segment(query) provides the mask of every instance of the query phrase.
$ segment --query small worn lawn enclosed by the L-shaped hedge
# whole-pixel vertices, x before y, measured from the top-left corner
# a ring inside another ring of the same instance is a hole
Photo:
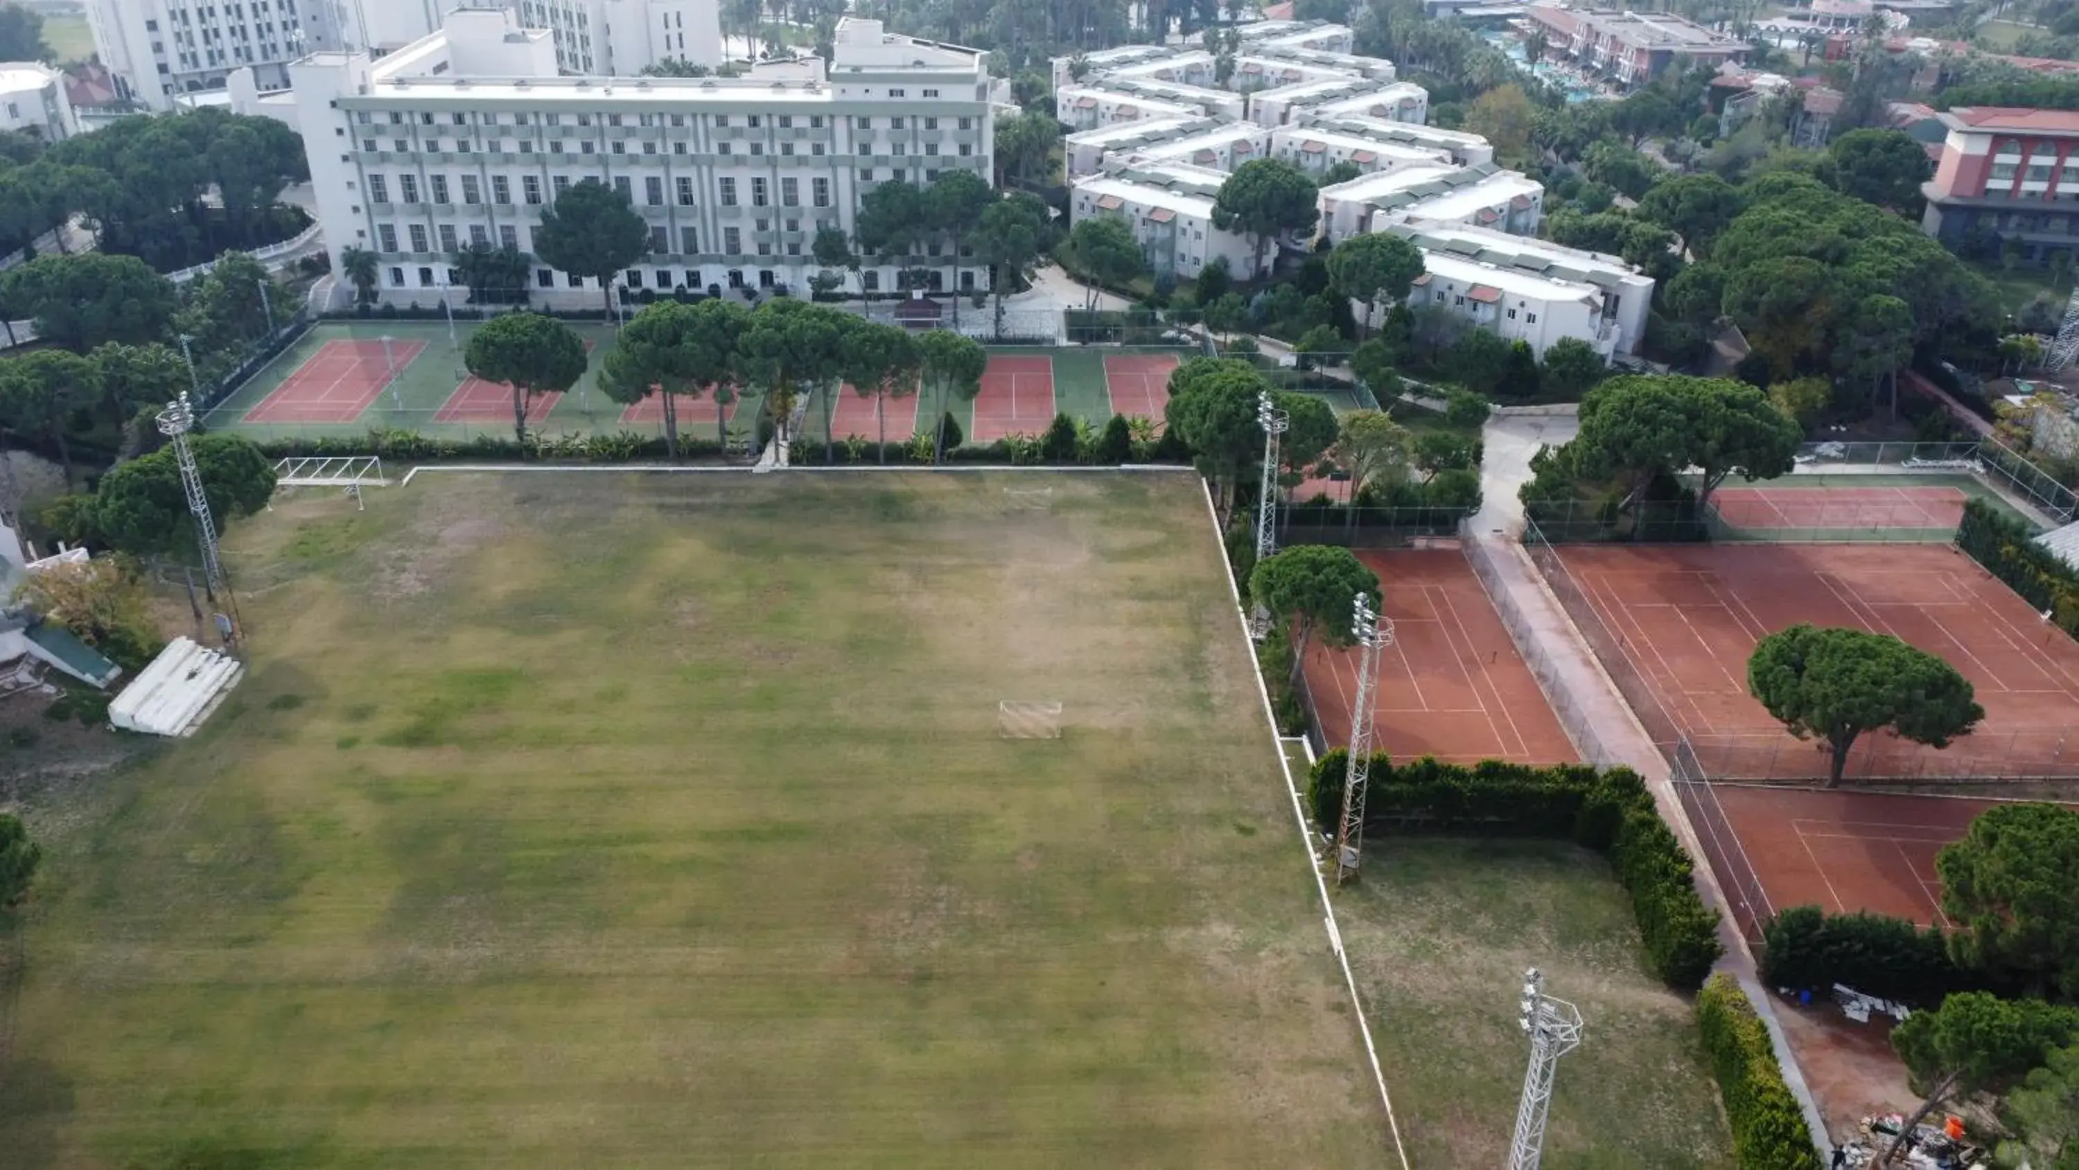
[[[1609,867],[1563,842],[1372,837],[1337,914],[1416,1166],[1507,1162],[1528,1043],[1524,968],[1574,1002],[1545,1166],[1730,1168],[1688,1002],[1647,975]]]

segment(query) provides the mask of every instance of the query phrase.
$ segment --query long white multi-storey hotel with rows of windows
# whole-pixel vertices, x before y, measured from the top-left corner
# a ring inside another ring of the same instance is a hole
[[[584,181],[628,193],[651,229],[651,256],[615,283],[800,289],[817,270],[815,233],[850,235],[875,183],[990,175],[983,58],[844,19],[827,67],[563,77],[547,29],[522,29],[505,10],[457,10],[380,60],[318,52],[291,75],[335,272],[345,247],[372,249],[385,301],[432,303],[462,299],[449,293],[453,251],[532,251],[541,208]],[[906,266],[931,270],[933,287],[952,281],[952,258],[936,245]],[[979,291],[988,274],[963,266],[958,281]],[[896,266],[865,268],[861,285],[894,291]],[[597,283],[538,264],[532,293],[551,308],[599,303]]]

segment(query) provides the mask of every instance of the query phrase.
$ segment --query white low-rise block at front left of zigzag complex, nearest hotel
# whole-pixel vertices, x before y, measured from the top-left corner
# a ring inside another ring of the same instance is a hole
[[[1256,262],[1254,241],[1212,227],[1212,200],[1222,181],[1227,175],[1220,170],[1187,164],[1083,179],[1069,197],[1069,224],[1073,229],[1091,216],[1125,220],[1154,272],[1189,281],[1222,256],[1231,272],[1245,274]],[[1264,260],[1274,254],[1277,245],[1270,245]]]

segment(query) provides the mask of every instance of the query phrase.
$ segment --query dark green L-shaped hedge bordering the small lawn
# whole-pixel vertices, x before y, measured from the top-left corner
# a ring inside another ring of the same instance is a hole
[[[1314,823],[1335,831],[1343,813],[1349,752],[1324,754],[1308,777]],[[1694,991],[1723,954],[1717,910],[1696,894],[1688,850],[1661,821],[1638,773],[1626,767],[1514,765],[1472,767],[1422,756],[1393,765],[1372,756],[1364,798],[1366,827],[1565,837],[1609,858],[1632,900],[1647,966],[1661,983]]]

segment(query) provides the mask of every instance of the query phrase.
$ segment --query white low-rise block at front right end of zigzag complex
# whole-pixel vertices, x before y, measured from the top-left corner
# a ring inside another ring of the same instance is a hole
[[[1653,278],[1615,256],[1559,247],[1499,231],[1418,220],[1397,224],[1422,251],[1410,303],[1432,303],[1480,328],[1524,341],[1541,357],[1561,337],[1609,357],[1636,353],[1653,303]],[[1362,316],[1364,305],[1356,305]]]

